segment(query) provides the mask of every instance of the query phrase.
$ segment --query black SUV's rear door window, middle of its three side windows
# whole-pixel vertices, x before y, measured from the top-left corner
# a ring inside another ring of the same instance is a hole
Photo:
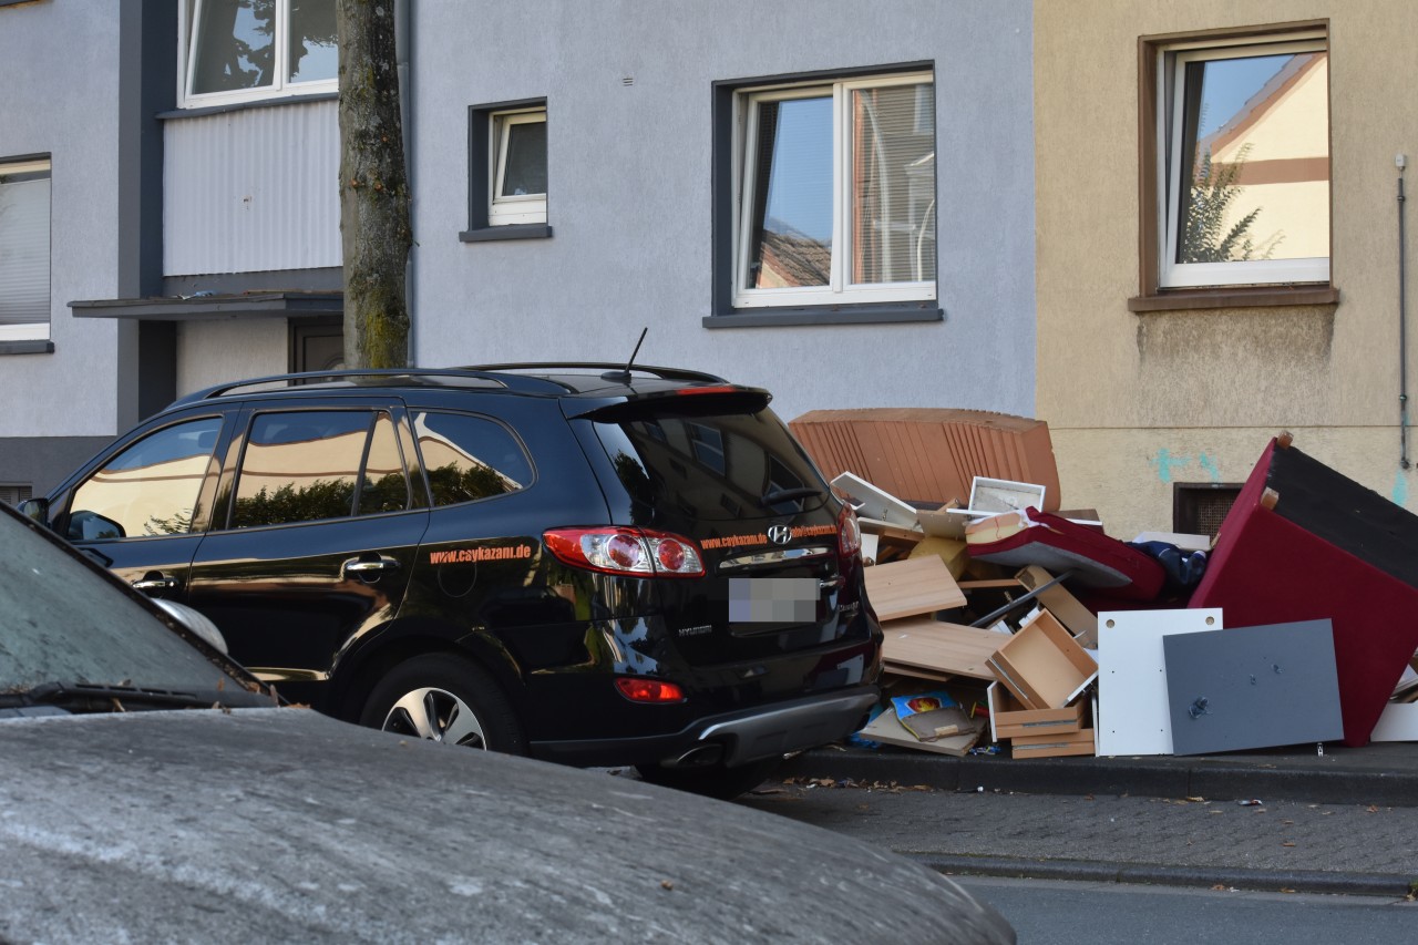
[[[360,511],[406,508],[403,463],[387,421],[387,413],[364,410],[258,413],[241,457],[231,526],[346,518],[360,482],[369,495],[369,508],[362,501]],[[386,488],[387,495],[377,495]]]

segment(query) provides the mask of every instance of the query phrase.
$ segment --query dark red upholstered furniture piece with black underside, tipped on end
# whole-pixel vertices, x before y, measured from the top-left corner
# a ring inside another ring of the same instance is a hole
[[[1364,745],[1418,648],[1418,516],[1272,440],[1190,606],[1221,607],[1232,627],[1329,617],[1344,744]]]

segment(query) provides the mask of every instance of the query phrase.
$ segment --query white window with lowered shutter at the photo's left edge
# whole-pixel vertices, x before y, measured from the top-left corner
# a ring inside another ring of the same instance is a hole
[[[0,342],[50,338],[50,162],[0,160]]]

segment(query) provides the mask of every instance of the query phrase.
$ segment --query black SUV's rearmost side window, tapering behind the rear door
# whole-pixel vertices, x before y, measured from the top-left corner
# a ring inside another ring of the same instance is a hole
[[[414,414],[414,433],[434,505],[472,502],[532,484],[527,454],[501,423],[424,410]]]

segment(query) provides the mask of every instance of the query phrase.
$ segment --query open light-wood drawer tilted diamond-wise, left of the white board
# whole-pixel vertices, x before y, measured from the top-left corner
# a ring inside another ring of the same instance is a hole
[[[1039,610],[988,660],[1025,708],[1064,708],[1098,677],[1098,663],[1048,610]]]

